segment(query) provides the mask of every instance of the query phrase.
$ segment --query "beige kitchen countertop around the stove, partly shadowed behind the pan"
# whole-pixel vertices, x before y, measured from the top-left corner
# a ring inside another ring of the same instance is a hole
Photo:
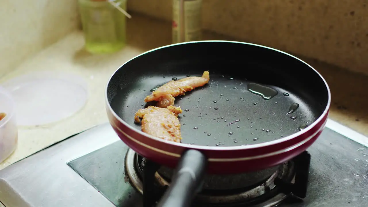
[[[25,60],[19,67],[1,77],[0,83],[12,77],[34,71],[53,70],[75,73],[88,82],[89,100],[78,113],[56,123],[24,127],[18,130],[18,146],[0,163],[0,169],[31,155],[57,141],[107,122],[105,86],[111,74],[121,64],[146,50],[171,43],[171,23],[134,14],[127,23],[128,45],[110,55],[86,52],[81,31],[75,31]],[[223,35],[204,32],[203,39],[226,39]],[[300,57],[300,56],[299,56]],[[300,57],[326,78],[332,92],[330,118],[368,136],[368,77],[335,66]]]

